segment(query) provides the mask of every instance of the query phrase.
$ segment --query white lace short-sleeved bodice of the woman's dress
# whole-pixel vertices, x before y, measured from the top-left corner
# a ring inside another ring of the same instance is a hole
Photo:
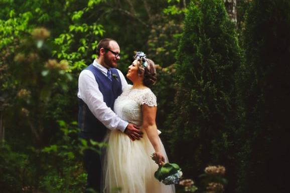
[[[157,106],[156,96],[150,88],[133,89],[128,85],[115,100],[114,111],[123,120],[135,125],[142,125],[141,105]]]

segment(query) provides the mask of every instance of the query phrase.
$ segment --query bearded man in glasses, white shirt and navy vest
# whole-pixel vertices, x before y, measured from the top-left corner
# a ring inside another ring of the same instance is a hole
[[[118,129],[132,140],[142,137],[142,132],[133,124],[118,117],[113,111],[115,99],[122,93],[127,82],[116,69],[120,48],[115,40],[103,39],[97,46],[98,58],[79,75],[78,125],[80,136],[101,142],[107,129]],[[101,158],[92,150],[84,152],[84,166],[88,173],[87,190],[100,191]]]

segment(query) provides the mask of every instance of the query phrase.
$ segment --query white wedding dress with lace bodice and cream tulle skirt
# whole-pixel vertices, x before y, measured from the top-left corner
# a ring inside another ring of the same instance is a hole
[[[151,89],[133,89],[129,85],[115,100],[115,113],[130,123],[142,125],[141,106],[157,106],[156,96]],[[174,193],[174,185],[164,185],[154,177],[158,165],[151,159],[155,152],[150,140],[143,131],[140,140],[132,141],[119,130],[110,131],[105,138],[108,144],[104,156],[104,192],[121,193]],[[158,131],[160,133],[160,131]],[[163,154],[168,158],[161,143]],[[116,189],[119,188],[119,189]]]

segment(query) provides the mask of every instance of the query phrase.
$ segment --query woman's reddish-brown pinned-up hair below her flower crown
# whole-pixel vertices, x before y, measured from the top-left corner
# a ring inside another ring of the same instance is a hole
[[[147,62],[147,65],[144,66],[144,61]],[[144,72],[143,84],[144,86],[151,87],[156,83],[156,68],[155,64],[150,59],[143,59],[143,61],[138,60],[138,74]]]

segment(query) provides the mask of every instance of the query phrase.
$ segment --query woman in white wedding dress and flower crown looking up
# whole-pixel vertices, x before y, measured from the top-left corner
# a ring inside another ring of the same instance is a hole
[[[155,64],[144,53],[137,52],[126,76],[133,85],[115,100],[114,111],[121,119],[140,126],[144,134],[140,140],[133,141],[118,130],[108,133],[103,191],[113,192],[120,188],[118,192],[123,193],[175,192],[174,185],[164,185],[154,177],[158,164],[168,162],[155,122],[156,96],[149,88],[156,81]],[[152,154],[158,158],[158,164],[151,159]]]

